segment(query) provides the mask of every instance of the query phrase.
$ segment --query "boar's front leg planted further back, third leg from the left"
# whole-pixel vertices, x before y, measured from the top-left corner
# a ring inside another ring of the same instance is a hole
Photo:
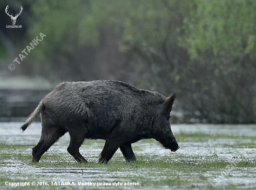
[[[119,144],[116,143],[116,141],[113,140],[106,140],[105,146],[100,154],[99,162],[107,164],[108,161],[112,158],[112,156],[115,154],[117,149],[119,148]]]

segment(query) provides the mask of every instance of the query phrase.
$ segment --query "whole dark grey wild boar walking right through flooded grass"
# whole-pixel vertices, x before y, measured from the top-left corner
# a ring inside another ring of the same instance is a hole
[[[79,152],[84,139],[106,140],[101,163],[108,163],[118,148],[127,161],[135,161],[131,144],[141,139],[156,139],[172,152],[180,148],[169,120],[174,100],[175,94],[165,97],[119,81],[62,82],[40,101],[21,129],[40,115],[41,138],[32,151],[35,163],[67,132],[67,152],[79,163],[87,162]]]

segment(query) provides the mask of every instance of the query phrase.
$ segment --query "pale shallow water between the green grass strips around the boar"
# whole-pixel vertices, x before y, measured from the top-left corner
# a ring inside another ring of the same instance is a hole
[[[20,131],[21,122],[0,122],[1,138],[0,143],[7,145],[22,145],[24,148],[21,150],[17,148],[17,154],[25,153],[31,154],[32,147],[34,147],[40,139],[40,123],[32,124],[23,133]],[[205,133],[205,134],[224,134],[230,136],[256,136],[256,125],[172,125],[172,131],[175,134],[179,133]],[[163,149],[159,146],[159,143],[155,140],[141,140],[133,144],[133,150],[135,155],[139,155],[140,158],[145,156],[153,158],[154,160],[165,159],[173,160],[176,163],[179,162],[191,162],[202,164],[204,161],[226,161],[227,163],[236,163],[238,159],[254,160],[256,158],[256,148],[237,148],[237,140],[234,138],[224,139],[208,139],[206,141],[179,141],[181,148],[173,153],[169,150]],[[250,139],[240,139],[241,143],[252,143]],[[254,143],[256,143],[254,141]],[[175,177],[182,178],[187,182],[185,185],[175,185],[175,189],[205,189],[209,187],[209,184],[213,189],[226,189],[226,185],[235,185],[239,189],[254,189],[256,188],[256,167],[232,167],[231,170],[223,169],[222,171],[215,171],[214,169],[205,168],[201,173],[190,173],[189,168],[183,171],[172,171],[170,168],[155,169],[154,167],[128,168],[126,171],[109,171],[109,168],[104,165],[98,165],[97,167],[80,167],[80,166],[68,166],[68,163],[75,164],[75,160],[67,152],[67,146],[69,144],[69,135],[63,136],[57,143],[52,146],[47,155],[57,155],[60,157],[60,161],[53,161],[49,157],[42,157],[40,162],[49,163],[49,165],[58,165],[59,162],[67,162],[66,167],[41,167],[38,165],[31,165],[29,160],[24,163],[19,157],[17,158],[2,158],[0,162],[0,177],[6,179],[5,181],[20,182],[20,181],[40,181],[58,182],[58,181],[73,181],[77,182],[94,182],[94,183],[113,183],[113,182],[138,182],[140,186],[117,186],[118,189],[148,189],[147,185],[143,185],[143,182],[153,181],[158,182],[161,180],[169,179],[175,180]],[[225,145],[235,146],[225,146]],[[88,159],[89,162],[97,163],[99,154],[104,146],[103,140],[85,140],[80,148],[81,154]],[[21,151],[21,152],[20,152]],[[65,158],[65,159],[63,159]],[[58,160],[58,159],[57,159]],[[64,161],[63,161],[64,160]],[[124,160],[120,150],[118,150],[111,162],[115,163],[115,160]],[[150,165],[150,164],[149,164]],[[152,172],[154,175],[152,175]],[[164,173],[171,173],[172,176],[164,176]],[[158,176],[159,173],[159,176]],[[197,183],[194,177],[206,178],[202,183]],[[1,180],[0,187],[4,189],[11,188],[5,186],[5,181]],[[191,185],[192,184],[192,185]],[[77,184],[78,185],[78,184]],[[187,185],[187,186],[186,186]],[[214,185],[216,185],[214,187]],[[36,189],[40,189],[42,186],[37,186]],[[74,189],[74,186],[64,186],[65,189]],[[84,189],[85,186],[75,186],[77,188]],[[86,186],[86,188],[93,188],[92,186]],[[170,189],[170,185],[157,185],[157,189]],[[54,189],[61,189],[63,186],[52,186]],[[100,189],[113,189],[114,186],[100,185]]]

